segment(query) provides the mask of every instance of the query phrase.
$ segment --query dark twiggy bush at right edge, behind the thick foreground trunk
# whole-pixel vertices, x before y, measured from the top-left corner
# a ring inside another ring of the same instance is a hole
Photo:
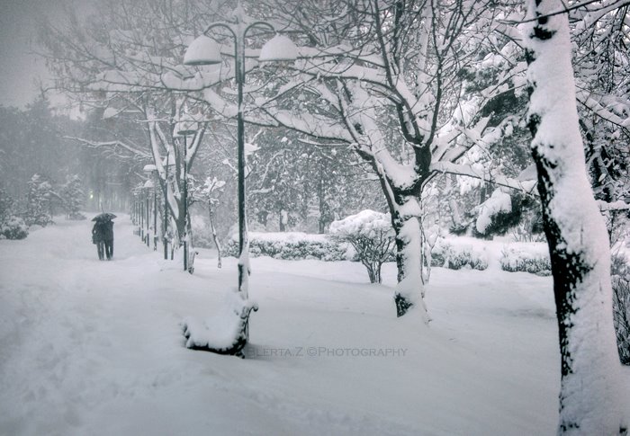
[[[625,256],[613,256],[611,279],[613,285],[613,319],[617,333],[619,359],[630,365],[630,267]]]

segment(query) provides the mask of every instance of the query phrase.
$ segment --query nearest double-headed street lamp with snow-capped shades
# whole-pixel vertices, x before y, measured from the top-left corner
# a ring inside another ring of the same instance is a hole
[[[243,119],[243,85],[245,84],[245,38],[247,31],[254,27],[266,27],[274,31],[268,22],[252,22],[247,24],[242,19],[240,7],[234,13],[236,22],[213,22],[203,34],[190,44],[184,54],[184,65],[204,66],[222,62],[220,47],[215,40],[207,36],[211,29],[222,27],[234,38],[235,78],[238,87],[237,139],[238,139],[238,292],[247,299],[247,269],[249,268],[249,243],[247,240],[247,218],[245,215],[245,122]],[[260,50],[258,60],[294,61],[297,58],[297,47],[293,41],[283,35],[275,35]]]

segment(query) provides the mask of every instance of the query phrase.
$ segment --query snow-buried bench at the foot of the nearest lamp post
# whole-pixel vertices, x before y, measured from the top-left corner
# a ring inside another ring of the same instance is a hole
[[[243,300],[231,293],[226,304],[215,315],[205,320],[186,317],[182,330],[186,347],[191,350],[212,351],[244,358],[243,347],[248,340],[249,315],[258,306],[251,300]]]

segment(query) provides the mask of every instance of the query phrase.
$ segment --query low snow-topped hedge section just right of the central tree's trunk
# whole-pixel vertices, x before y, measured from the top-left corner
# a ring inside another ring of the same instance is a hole
[[[467,238],[439,238],[431,252],[431,266],[482,271],[488,268],[488,254],[482,245],[473,244]]]

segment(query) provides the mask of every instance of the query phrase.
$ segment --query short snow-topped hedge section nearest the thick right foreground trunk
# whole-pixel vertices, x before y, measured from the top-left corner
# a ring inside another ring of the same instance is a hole
[[[506,245],[501,252],[500,264],[503,271],[525,271],[538,275],[551,274],[549,247],[545,243]]]

